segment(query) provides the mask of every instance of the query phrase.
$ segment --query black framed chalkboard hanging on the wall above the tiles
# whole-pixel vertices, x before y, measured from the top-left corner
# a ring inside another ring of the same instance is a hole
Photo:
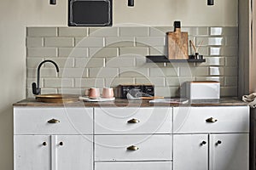
[[[112,0],[68,0],[68,26],[112,26]]]

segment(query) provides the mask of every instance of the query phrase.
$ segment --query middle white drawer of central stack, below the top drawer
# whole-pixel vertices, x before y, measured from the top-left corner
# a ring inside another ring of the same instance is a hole
[[[172,135],[96,135],[96,161],[171,161]],[[128,150],[136,146],[134,150]]]

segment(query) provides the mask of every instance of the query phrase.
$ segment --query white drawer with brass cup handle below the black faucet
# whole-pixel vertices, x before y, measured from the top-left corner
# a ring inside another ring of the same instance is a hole
[[[92,134],[92,119],[91,108],[15,107],[14,133]]]

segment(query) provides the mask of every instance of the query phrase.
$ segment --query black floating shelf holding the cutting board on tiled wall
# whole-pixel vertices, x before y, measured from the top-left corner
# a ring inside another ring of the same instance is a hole
[[[178,62],[203,63],[203,62],[206,62],[206,59],[168,59],[165,55],[148,55],[146,56],[146,58],[147,58],[147,63],[178,63]]]

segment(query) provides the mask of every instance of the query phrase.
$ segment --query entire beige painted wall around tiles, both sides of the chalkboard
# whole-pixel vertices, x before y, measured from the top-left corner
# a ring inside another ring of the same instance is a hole
[[[26,96],[26,26],[67,26],[67,0],[0,0],[0,169],[13,169],[12,104]],[[157,2],[157,3],[156,3]],[[237,0],[113,0],[113,23],[170,26],[236,26]],[[129,18],[127,18],[129,16]]]

